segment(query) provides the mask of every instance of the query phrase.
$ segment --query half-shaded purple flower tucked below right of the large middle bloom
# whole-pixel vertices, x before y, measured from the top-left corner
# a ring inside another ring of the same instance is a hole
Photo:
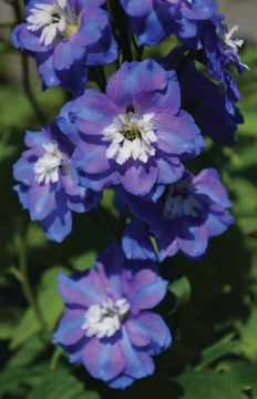
[[[230,202],[213,168],[194,176],[188,171],[184,177],[164,188],[156,203],[120,193],[135,219],[123,237],[123,248],[128,258],[155,258],[147,226],[154,235],[162,262],[179,249],[189,257],[199,257],[208,238],[223,234],[233,223]],[[143,224],[142,224],[143,222]]]

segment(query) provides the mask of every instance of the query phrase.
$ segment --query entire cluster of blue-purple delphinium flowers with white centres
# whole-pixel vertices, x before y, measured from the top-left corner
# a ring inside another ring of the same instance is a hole
[[[59,243],[72,212],[97,207],[106,187],[132,215],[121,245],[59,279],[65,310],[54,342],[112,388],[152,375],[152,357],[172,342],[148,311],[167,289],[160,264],[178,250],[203,256],[234,223],[218,172],[195,175],[185,163],[204,151],[205,136],[235,143],[243,116],[232,66],[246,69],[236,29],[214,0],[29,0],[13,30],[43,88],[72,94],[53,123],[25,134],[29,149],[13,166],[23,208]],[[145,44],[171,35],[179,44],[166,57],[142,60]],[[116,70],[106,83],[107,63]]]

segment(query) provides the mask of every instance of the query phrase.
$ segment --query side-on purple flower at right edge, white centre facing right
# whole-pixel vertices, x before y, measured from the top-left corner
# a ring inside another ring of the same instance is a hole
[[[239,73],[247,69],[238,55],[238,49],[241,48],[244,40],[233,38],[237,30],[238,27],[228,30],[224,22],[224,16],[217,14],[205,22],[201,33],[208,71],[213,79],[222,82],[226,110],[232,115],[235,115],[234,104],[241,98],[230,68],[236,66]]]

